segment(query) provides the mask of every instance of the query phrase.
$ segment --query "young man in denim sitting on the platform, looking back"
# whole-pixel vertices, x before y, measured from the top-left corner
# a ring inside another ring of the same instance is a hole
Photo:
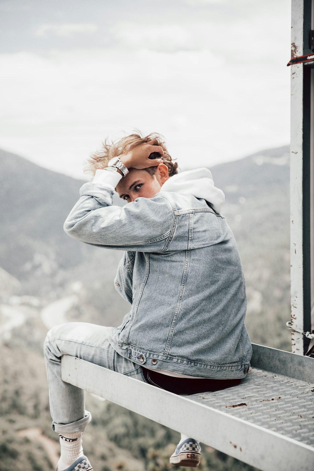
[[[73,322],[47,334],[58,471],[92,470],[81,445],[91,415],[84,391],[61,379],[62,355],[194,394],[239,384],[252,354],[242,264],[210,171],[177,174],[158,134],[105,143],[89,169],[94,179],[81,187],[64,230],[86,244],[125,251],[114,283],[131,307],[117,328]],[[113,206],[114,191],[129,204]],[[198,466],[200,456],[199,442],[181,435],[170,463]]]

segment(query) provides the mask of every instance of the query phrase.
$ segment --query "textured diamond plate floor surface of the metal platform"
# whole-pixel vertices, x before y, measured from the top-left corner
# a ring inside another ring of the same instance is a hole
[[[238,386],[186,396],[314,446],[314,385],[258,368]]]

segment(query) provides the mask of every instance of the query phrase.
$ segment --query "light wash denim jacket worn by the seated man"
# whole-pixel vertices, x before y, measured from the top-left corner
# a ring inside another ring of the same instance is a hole
[[[245,281],[225,218],[189,191],[113,206],[114,186],[85,183],[64,223],[75,239],[125,250],[114,283],[131,309],[119,327],[107,329],[113,348],[150,369],[245,377],[252,355]]]

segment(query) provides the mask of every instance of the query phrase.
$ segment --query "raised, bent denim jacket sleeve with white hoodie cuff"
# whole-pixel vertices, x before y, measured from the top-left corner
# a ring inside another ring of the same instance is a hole
[[[79,201],[64,222],[64,231],[81,242],[108,249],[162,251],[174,224],[167,198],[157,193],[122,208],[113,206],[113,184],[84,183]]]

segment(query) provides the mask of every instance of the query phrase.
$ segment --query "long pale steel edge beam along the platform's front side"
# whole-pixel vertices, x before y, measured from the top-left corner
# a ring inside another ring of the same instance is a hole
[[[262,471],[313,471],[313,447],[191,398],[69,356],[62,357],[62,379],[173,430],[197,437],[202,443]]]

